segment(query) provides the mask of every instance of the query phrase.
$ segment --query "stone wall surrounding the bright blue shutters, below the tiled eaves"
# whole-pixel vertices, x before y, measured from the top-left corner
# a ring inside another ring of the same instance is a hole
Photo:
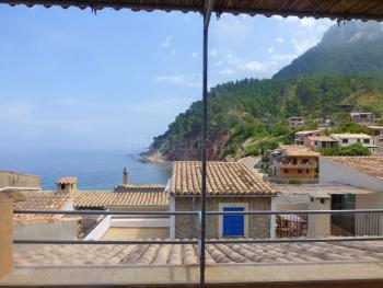
[[[218,211],[219,204],[247,203],[248,210],[270,210],[271,197],[207,197],[207,211]],[[195,198],[195,210],[200,210],[200,199]],[[176,211],[193,210],[193,197],[175,197]],[[207,216],[207,239],[217,239],[219,234],[219,218],[222,216]],[[268,238],[270,232],[270,216],[251,215],[248,218],[248,237]],[[246,228],[245,228],[246,229]],[[199,221],[197,216],[175,216],[175,238],[196,239],[199,237]]]

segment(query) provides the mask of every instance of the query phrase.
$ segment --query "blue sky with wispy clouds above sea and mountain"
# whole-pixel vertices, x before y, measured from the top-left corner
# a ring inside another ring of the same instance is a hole
[[[201,97],[201,16],[0,5],[0,149],[142,149]],[[269,78],[328,20],[212,18],[209,85]]]

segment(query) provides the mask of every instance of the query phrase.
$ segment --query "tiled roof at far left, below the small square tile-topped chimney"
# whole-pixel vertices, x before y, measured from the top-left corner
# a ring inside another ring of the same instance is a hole
[[[22,192],[25,200],[14,203],[15,210],[61,210],[69,201],[69,193],[55,191]],[[40,220],[46,218],[57,218],[53,215],[15,214],[14,220]]]

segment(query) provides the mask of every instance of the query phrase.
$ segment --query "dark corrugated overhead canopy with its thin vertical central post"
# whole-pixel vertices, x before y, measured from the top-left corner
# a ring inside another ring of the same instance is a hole
[[[204,57],[202,57],[202,137],[201,137],[201,212],[200,212],[200,285],[205,287],[205,243],[206,243],[206,172],[207,172],[207,104],[208,104],[208,28],[212,13],[263,14],[266,16],[313,16],[337,21],[375,20],[383,21],[383,0],[0,0],[11,5],[46,8],[59,5],[63,9],[78,7],[94,11],[104,8],[134,11],[182,11],[198,12],[204,15]]]

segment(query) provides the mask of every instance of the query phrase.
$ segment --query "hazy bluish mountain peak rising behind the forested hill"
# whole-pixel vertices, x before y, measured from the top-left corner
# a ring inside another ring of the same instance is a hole
[[[347,22],[332,26],[320,44],[274,78],[293,74],[369,74],[383,78],[383,25]]]

